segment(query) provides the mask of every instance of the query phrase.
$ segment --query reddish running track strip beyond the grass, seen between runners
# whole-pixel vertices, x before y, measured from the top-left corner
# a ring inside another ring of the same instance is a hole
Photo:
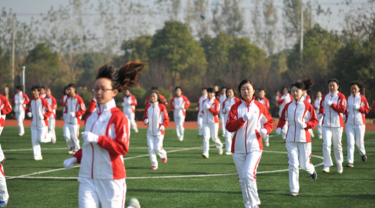
[[[142,121],[136,121],[139,128],[145,128],[147,125],[144,125]],[[85,121],[81,122],[81,127],[85,126]],[[273,123],[273,129],[276,130],[277,123]],[[15,119],[6,119],[5,120],[5,126],[17,126],[17,120]],[[31,126],[31,120],[24,120],[24,126]],[[64,120],[56,120],[56,127],[63,127],[64,126]],[[196,121],[186,121],[184,123],[185,129],[197,129]],[[168,124],[167,129],[174,129],[174,121],[170,121]],[[221,129],[221,125],[219,125],[219,129]],[[345,126],[344,126],[345,130]],[[375,131],[375,124],[366,124],[366,130],[368,131]]]

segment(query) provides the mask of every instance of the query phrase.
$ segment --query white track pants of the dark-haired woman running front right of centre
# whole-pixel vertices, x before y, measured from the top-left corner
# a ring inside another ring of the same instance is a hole
[[[245,208],[260,204],[257,188],[257,168],[262,157],[262,150],[250,153],[233,153],[234,165],[242,189]]]

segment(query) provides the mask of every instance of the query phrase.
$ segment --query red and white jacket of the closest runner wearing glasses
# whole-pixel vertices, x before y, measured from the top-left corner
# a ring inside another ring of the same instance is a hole
[[[98,143],[83,144],[74,154],[81,163],[79,177],[103,180],[126,178],[124,158],[129,150],[127,118],[114,100],[96,105],[86,117],[85,131],[99,135]]]

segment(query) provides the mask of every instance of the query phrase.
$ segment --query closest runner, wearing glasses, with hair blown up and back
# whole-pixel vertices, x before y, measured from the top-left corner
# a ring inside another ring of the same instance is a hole
[[[86,117],[82,148],[64,161],[66,169],[81,163],[78,181],[80,208],[123,208],[126,172],[123,156],[129,150],[128,120],[116,107],[114,97],[133,87],[145,64],[134,61],[117,70],[114,64],[102,66],[93,88],[96,111]]]

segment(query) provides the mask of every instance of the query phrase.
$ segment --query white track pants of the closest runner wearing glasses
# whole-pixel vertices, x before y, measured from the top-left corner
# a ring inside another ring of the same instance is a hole
[[[126,197],[125,178],[103,180],[79,177],[78,205],[80,208],[124,208]]]

